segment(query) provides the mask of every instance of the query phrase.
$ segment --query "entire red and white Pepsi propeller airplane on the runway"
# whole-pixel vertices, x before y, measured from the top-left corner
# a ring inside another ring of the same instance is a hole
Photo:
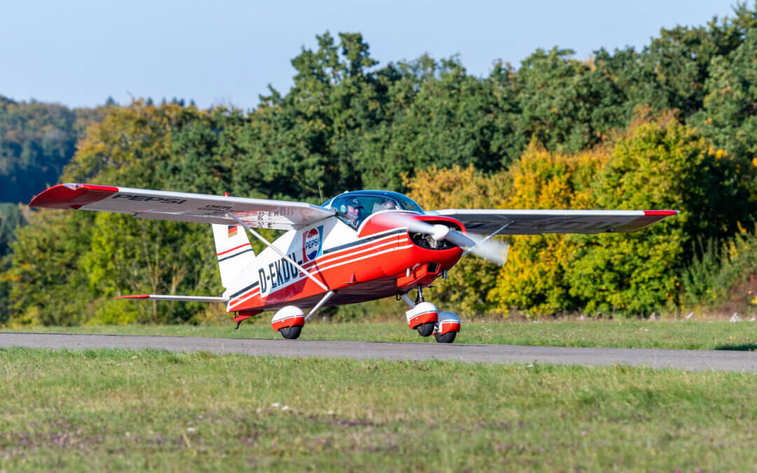
[[[301,334],[325,306],[397,297],[410,307],[407,325],[451,343],[460,319],[423,297],[423,288],[469,252],[504,264],[508,246],[494,235],[635,232],[677,210],[431,210],[391,191],[344,192],[321,206],[151,191],[93,184],[59,184],[30,207],[103,210],[139,219],[209,223],[213,227],[221,297],[138,294],[120,299],[221,302],[236,327],[276,310],[271,326],[283,338]],[[286,230],[270,242],[255,229]],[[246,231],[246,232],[245,232]],[[265,249],[254,254],[248,235]],[[408,294],[416,291],[415,299]],[[307,315],[304,309],[309,309]]]

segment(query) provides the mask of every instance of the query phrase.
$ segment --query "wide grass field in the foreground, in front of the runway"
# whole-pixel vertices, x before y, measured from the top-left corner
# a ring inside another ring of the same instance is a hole
[[[0,470],[755,469],[757,376],[0,350]]]

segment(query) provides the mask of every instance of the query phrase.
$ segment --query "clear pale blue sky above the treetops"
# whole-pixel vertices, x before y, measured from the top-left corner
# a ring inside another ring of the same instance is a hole
[[[701,25],[731,15],[731,0],[572,2],[4,2],[0,95],[68,106],[111,95],[193,98],[201,107],[251,108],[267,84],[286,92],[291,58],[317,48],[316,34],[360,32],[373,58],[459,54],[486,76],[501,58],[516,67],[536,48],[648,45],[662,26]],[[751,6],[752,3],[750,2]]]

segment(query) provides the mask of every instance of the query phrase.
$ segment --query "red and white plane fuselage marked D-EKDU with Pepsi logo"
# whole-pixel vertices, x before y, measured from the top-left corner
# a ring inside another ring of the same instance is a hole
[[[326,305],[358,303],[405,294],[430,285],[457,263],[459,247],[431,248],[406,227],[387,228],[379,214],[357,229],[338,217],[290,230],[273,242],[280,251],[335,291]],[[413,218],[465,230],[455,219],[411,214]],[[326,291],[270,248],[255,257],[244,283],[229,288],[229,312],[257,313],[295,304],[313,307]]]

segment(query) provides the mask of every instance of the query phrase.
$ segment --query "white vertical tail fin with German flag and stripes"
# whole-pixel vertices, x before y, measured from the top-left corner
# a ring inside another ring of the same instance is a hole
[[[234,285],[241,270],[250,266],[255,253],[241,225],[213,225],[213,238],[216,240],[221,284],[228,289]]]

